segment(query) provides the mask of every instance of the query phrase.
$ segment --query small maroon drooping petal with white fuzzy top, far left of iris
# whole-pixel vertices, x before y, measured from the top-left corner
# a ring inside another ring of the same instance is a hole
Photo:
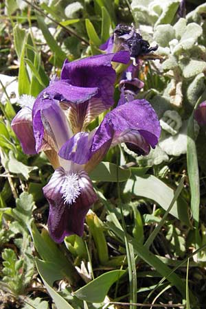
[[[32,110],[30,108],[21,108],[12,120],[12,129],[21,142],[23,152],[27,155],[36,154],[36,143],[32,126]]]

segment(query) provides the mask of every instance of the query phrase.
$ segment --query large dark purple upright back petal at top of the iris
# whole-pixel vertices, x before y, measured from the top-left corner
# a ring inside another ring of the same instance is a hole
[[[73,133],[84,130],[96,116],[114,104],[116,73],[111,61],[127,63],[129,60],[129,53],[123,51],[116,54],[92,56],[73,62],[65,61],[61,73],[62,82],[65,81],[70,84],[70,87],[75,86],[77,89],[78,87],[79,89],[97,89],[94,95],[82,102],[72,102],[69,96],[65,96],[67,102],[65,101],[63,104],[68,108],[67,115]],[[82,92],[84,91],[82,90]]]

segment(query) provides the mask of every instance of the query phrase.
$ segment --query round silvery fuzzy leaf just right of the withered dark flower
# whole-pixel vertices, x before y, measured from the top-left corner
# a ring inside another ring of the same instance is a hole
[[[169,42],[175,38],[175,32],[171,25],[158,25],[155,28],[154,40],[161,47],[169,46]]]

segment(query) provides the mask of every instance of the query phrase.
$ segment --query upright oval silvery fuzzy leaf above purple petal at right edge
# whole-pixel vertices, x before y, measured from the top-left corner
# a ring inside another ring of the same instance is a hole
[[[194,106],[205,89],[205,74],[199,73],[187,88],[187,100]]]

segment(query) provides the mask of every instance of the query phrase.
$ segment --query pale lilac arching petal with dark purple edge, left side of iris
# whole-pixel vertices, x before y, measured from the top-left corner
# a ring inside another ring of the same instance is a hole
[[[48,139],[52,142],[51,148],[58,149],[72,136],[67,117],[54,98],[43,93],[38,95],[32,113],[37,152],[45,150],[43,144]]]

